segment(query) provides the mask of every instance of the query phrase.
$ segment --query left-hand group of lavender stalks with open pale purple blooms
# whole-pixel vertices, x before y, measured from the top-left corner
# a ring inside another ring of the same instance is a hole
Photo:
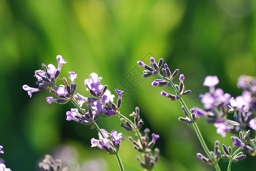
[[[134,149],[137,149],[142,153],[143,161],[140,157],[137,156],[139,164],[143,169],[151,170],[155,166],[155,163],[159,158],[159,149],[155,148],[153,155],[151,149],[155,145],[155,142],[159,138],[159,135],[152,134],[152,140],[149,141],[149,129],[145,129],[145,136],[142,136],[139,132],[139,129],[142,128],[143,121],[139,117],[139,108],[135,109],[130,116],[134,117],[134,123],[126,116],[122,115],[119,109],[122,105],[122,94],[123,91],[115,89],[115,92],[118,95],[117,103],[114,103],[114,95],[109,91],[108,86],[103,86],[101,84],[102,78],[99,77],[96,73],[91,73],[89,79],[85,79],[86,90],[90,92],[91,97],[82,96],[80,93],[76,93],[77,84],[75,84],[75,79],[77,74],[75,72],[69,72],[70,84],[66,78],[63,78],[63,83],[59,86],[56,85],[57,78],[61,72],[63,64],[66,64],[65,60],[61,55],[57,56],[58,68],[55,68],[53,64],[49,64],[47,67],[45,64],[42,64],[42,67],[45,71],[37,70],[35,71],[35,77],[37,78],[36,84],[39,86],[37,88],[29,87],[27,85],[23,86],[23,89],[27,91],[28,95],[31,97],[32,93],[43,91],[49,89],[51,93],[55,95],[46,97],[47,103],[57,103],[65,104],[69,101],[73,103],[75,108],[71,108],[70,111],[66,112],[66,120],[75,121],[80,124],[91,125],[91,129],[96,128],[98,131],[98,139],[91,139],[91,147],[97,146],[108,154],[115,154],[119,164],[119,168],[123,169],[121,159],[119,158],[118,151],[121,145],[121,141],[125,140],[122,136],[122,133],[117,133],[113,130],[110,133],[105,129],[99,128],[96,121],[100,118],[101,115],[106,116],[118,116],[119,119],[123,122],[121,127],[126,131],[134,133],[134,136],[137,137],[138,141],[134,141],[132,137],[129,137],[129,140],[133,143]],[[86,108],[83,108],[83,105],[86,104]],[[47,161],[47,162],[46,162]],[[55,163],[57,168],[59,162],[54,161],[49,156],[46,156],[46,159],[39,164],[41,168],[49,168],[49,165]],[[52,169],[53,167],[51,167]]]

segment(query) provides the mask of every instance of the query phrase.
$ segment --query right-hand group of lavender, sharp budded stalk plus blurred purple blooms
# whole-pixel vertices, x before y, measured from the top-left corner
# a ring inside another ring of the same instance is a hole
[[[214,165],[216,170],[221,170],[218,166],[218,161],[223,158],[224,160],[229,160],[228,170],[230,170],[231,162],[237,162],[246,157],[246,154],[243,154],[241,150],[251,156],[256,155],[256,140],[255,137],[250,135],[251,131],[256,131],[256,117],[253,118],[253,113],[256,111],[255,78],[245,75],[240,76],[237,86],[243,89],[243,93],[241,96],[232,97],[229,93],[224,93],[223,89],[215,88],[219,83],[217,76],[206,76],[203,86],[209,87],[209,92],[200,96],[203,109],[194,107],[189,110],[182,99],[183,95],[191,93],[190,90],[185,91],[185,76],[183,74],[179,75],[179,85],[173,83],[173,79],[178,75],[178,69],[171,74],[167,64],[164,64],[161,74],[163,59],[156,63],[153,57],[150,58],[150,66],[141,61],[138,61],[138,64],[145,69],[143,77],[159,76],[160,79],[155,79],[151,83],[152,86],[173,87],[175,94],[162,91],[161,95],[170,100],[181,101],[185,117],[179,117],[179,120],[187,124],[193,124],[198,139],[207,155],[205,157],[203,154],[197,153],[197,157],[203,162]],[[233,115],[233,119],[229,119],[229,115]],[[233,140],[232,145],[238,147],[237,150],[232,152],[231,146],[227,147],[223,144],[223,154],[221,155],[219,141],[215,141],[214,150],[210,151],[196,123],[199,117],[205,117],[207,119],[206,124],[213,124],[217,128],[217,133],[222,137],[226,137],[227,132],[233,133],[230,138]]]

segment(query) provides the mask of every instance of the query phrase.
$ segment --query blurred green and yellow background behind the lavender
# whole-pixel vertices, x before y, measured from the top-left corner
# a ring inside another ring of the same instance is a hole
[[[0,0],[0,144],[5,151],[0,157],[12,170],[37,170],[45,154],[63,152],[73,158],[67,161],[74,168],[79,164],[74,170],[118,170],[114,156],[90,148],[96,130],[66,121],[71,103],[47,104],[49,91],[30,99],[22,89],[23,84],[35,87],[34,71],[42,69],[42,63],[57,66],[56,56],[62,55],[67,64],[60,78],[74,71],[82,95],[88,95],[83,82],[91,72],[102,76],[102,84],[111,90],[122,83],[123,115],[138,106],[143,128],[161,137],[155,145],[161,150],[155,170],[213,170],[196,157],[203,150],[193,128],[178,121],[181,104],[160,95],[162,90],[173,91],[152,87],[156,77],[132,76],[143,71],[138,60],[154,56],[185,75],[185,87],[193,92],[184,97],[189,108],[202,107],[198,96],[207,91],[202,86],[207,75],[217,75],[218,87],[238,96],[238,76],[255,75],[255,26],[253,0]],[[231,145],[229,134],[222,138],[204,122],[199,119],[198,125],[211,150],[215,140]],[[138,152],[127,140],[130,134],[119,127],[118,118],[99,119],[98,124],[109,132],[123,132],[123,165],[142,170],[135,160]],[[253,170],[255,161],[247,157],[233,164],[233,170]],[[219,162],[223,170],[227,164]]]

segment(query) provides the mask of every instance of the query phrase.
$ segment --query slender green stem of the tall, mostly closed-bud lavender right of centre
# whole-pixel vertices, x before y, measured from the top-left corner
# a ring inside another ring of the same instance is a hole
[[[168,80],[168,79],[164,78],[161,74],[158,74],[158,76],[160,76],[162,79],[164,79],[164,80],[170,82],[170,83],[171,83],[171,86],[174,88],[175,93],[176,93],[177,95],[179,95],[178,89],[175,87],[175,84],[174,84],[171,80]],[[181,104],[182,104],[183,107],[185,108],[185,110],[186,110],[186,112],[188,113],[190,119],[192,119],[191,112],[190,112],[189,108],[187,108],[187,105],[186,105],[185,101],[183,101],[183,99],[182,99],[181,96],[179,97],[179,101],[181,102]],[[206,143],[205,143],[205,140],[203,139],[203,136],[202,136],[202,134],[201,134],[201,132],[200,132],[200,129],[198,128],[197,123],[193,123],[193,128],[194,128],[194,130],[195,130],[195,133],[197,134],[197,137],[198,137],[198,139],[199,139],[199,141],[200,141],[200,143],[201,143],[201,145],[202,145],[202,148],[203,148],[203,150],[205,151],[207,157],[209,157],[209,158],[214,162],[214,168],[215,168],[215,170],[220,171],[221,168],[219,168],[218,162],[215,162],[213,156],[211,156],[210,150],[208,149],[208,147],[207,147],[207,145],[206,145]]]

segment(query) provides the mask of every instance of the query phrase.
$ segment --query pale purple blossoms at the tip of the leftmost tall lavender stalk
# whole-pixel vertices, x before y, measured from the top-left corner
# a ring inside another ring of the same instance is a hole
[[[43,91],[44,89],[51,88],[56,83],[56,80],[59,76],[59,73],[61,72],[61,67],[63,64],[67,63],[62,58],[61,55],[57,56],[58,60],[58,68],[56,69],[53,64],[49,64],[48,68],[45,66],[45,64],[42,64],[42,67],[45,69],[45,71],[42,70],[36,70],[35,71],[35,77],[38,79],[35,84],[37,84],[38,88],[29,87],[26,84],[22,86],[22,88],[27,91],[27,94],[32,97],[33,92]]]

